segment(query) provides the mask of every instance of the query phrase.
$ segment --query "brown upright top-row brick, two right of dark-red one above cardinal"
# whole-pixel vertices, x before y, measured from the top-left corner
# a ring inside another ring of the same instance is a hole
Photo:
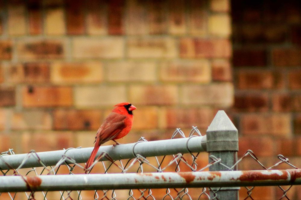
[[[167,20],[165,2],[150,1],[149,32],[150,34],[166,34]]]

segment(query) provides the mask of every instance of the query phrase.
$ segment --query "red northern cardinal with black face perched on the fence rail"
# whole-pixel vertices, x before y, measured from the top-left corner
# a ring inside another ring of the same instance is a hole
[[[100,145],[109,140],[113,140],[116,142],[115,145],[117,145],[119,143],[115,140],[124,137],[130,132],[130,129],[133,125],[133,110],[135,109],[137,108],[128,102],[114,105],[114,109],[112,110],[111,114],[105,118],[105,121],[97,131],[95,137],[95,147],[92,150],[91,156],[84,168],[86,173],[87,169],[94,162],[94,158]]]

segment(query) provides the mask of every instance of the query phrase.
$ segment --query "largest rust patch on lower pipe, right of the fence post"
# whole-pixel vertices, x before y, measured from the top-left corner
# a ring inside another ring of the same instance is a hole
[[[287,180],[288,173],[286,170],[279,170],[282,174],[272,173],[271,170],[265,171],[243,171],[243,174],[238,178],[240,181],[254,180]],[[270,172],[270,173],[266,173]]]

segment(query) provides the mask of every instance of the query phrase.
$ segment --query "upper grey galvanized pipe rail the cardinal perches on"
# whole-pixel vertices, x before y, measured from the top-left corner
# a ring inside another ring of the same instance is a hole
[[[68,156],[74,159],[76,163],[87,162],[92,150],[93,147],[88,147],[38,152],[36,153],[36,155],[46,166],[53,166],[59,162],[62,156]],[[120,144],[115,146],[114,148],[112,145],[101,146],[96,157],[99,156],[102,152],[108,153],[108,155],[113,160],[121,160],[136,158],[137,154],[144,157],[152,157],[172,155],[177,153],[196,153],[203,151],[206,151],[206,136],[192,136],[189,138],[177,138],[169,140]],[[10,169],[10,167],[7,164],[9,164],[12,168],[41,167],[42,165],[39,162],[36,155],[31,154],[30,157],[28,157],[28,153],[16,155],[2,155],[2,157],[0,158],[0,169]],[[24,159],[26,159],[26,162],[22,164],[22,161]],[[103,159],[101,159],[100,161],[105,160],[107,160],[107,158],[103,157]],[[22,166],[19,167],[21,164]],[[69,164],[71,164],[71,162],[69,162]]]

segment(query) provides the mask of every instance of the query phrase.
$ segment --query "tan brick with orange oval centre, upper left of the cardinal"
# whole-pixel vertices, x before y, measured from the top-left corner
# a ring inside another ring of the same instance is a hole
[[[103,69],[100,62],[54,62],[51,65],[53,83],[99,83],[102,80]]]

